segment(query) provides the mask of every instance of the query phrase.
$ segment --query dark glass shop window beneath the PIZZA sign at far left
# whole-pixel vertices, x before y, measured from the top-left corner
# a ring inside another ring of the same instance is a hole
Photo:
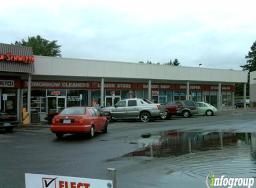
[[[3,100],[4,95],[7,96],[6,100]],[[17,89],[2,89],[1,109],[8,114],[17,115]]]

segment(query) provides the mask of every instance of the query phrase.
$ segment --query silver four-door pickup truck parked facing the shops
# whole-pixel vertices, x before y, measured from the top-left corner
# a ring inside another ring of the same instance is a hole
[[[115,106],[101,107],[100,110],[108,111],[112,120],[140,119],[143,122],[148,122],[151,118],[161,117],[167,113],[164,105],[149,103],[140,98],[121,100]]]

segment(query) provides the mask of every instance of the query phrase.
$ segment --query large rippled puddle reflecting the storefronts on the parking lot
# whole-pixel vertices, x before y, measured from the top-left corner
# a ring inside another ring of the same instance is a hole
[[[164,132],[142,135],[136,144],[138,149],[122,158],[156,159],[168,168],[166,174],[255,176],[256,133]]]

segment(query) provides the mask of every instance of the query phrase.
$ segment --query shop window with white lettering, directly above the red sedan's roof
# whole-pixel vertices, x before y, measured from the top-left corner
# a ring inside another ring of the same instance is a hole
[[[67,107],[88,106],[88,90],[67,90]]]

